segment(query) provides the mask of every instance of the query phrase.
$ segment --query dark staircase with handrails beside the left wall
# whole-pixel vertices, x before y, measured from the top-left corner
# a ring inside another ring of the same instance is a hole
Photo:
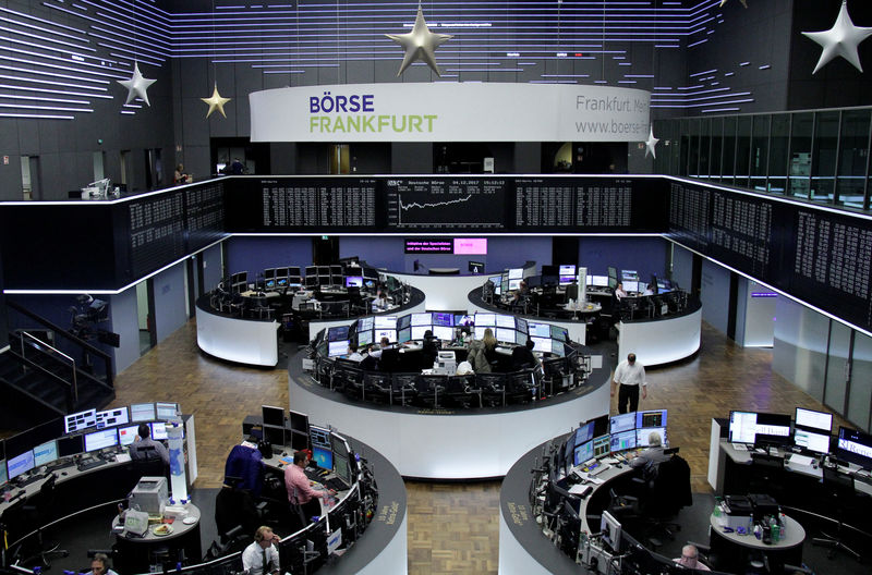
[[[106,353],[15,304],[10,307],[38,327],[10,331],[9,350],[0,353],[4,429],[27,429],[65,414],[99,409],[114,399]]]

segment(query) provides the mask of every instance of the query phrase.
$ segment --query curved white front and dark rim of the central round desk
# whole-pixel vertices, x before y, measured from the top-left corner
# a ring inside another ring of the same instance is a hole
[[[311,419],[337,421],[361,438],[403,477],[472,479],[500,477],[533,445],[608,412],[614,358],[604,353],[588,383],[521,405],[482,409],[427,409],[362,404],[313,381],[302,355],[291,358],[289,399]]]

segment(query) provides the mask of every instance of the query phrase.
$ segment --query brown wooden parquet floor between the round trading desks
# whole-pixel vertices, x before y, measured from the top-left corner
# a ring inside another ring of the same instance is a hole
[[[773,374],[771,359],[770,350],[741,348],[703,323],[695,357],[649,370],[650,392],[641,406],[668,406],[669,440],[691,466],[694,492],[711,492],[706,473],[712,417],[728,417],[730,409],[792,414],[796,405],[823,408]],[[199,466],[195,487],[219,487],[226,456],[239,441],[240,414],[257,413],[262,404],[287,407],[287,374],[205,356],[197,350],[191,320],[118,377],[112,405],[160,397],[195,413]],[[341,431],[341,421],[331,424]],[[836,417],[834,427],[838,425],[847,424]],[[497,573],[499,481],[407,481],[405,486],[410,574]]]

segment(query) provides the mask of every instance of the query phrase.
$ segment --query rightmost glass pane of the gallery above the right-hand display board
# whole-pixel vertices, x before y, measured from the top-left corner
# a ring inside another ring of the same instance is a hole
[[[836,203],[862,209],[865,163],[869,155],[870,110],[841,112]]]

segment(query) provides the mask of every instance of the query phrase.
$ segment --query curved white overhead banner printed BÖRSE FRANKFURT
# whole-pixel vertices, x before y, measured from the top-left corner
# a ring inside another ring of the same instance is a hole
[[[302,86],[249,95],[252,142],[644,142],[651,93],[564,84]]]

